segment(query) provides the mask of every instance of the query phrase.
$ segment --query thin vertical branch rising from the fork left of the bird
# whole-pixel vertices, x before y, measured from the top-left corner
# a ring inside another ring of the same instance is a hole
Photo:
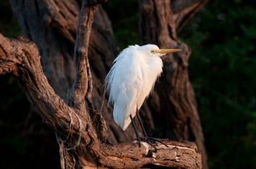
[[[83,97],[91,103],[92,80],[88,63],[88,44],[91,34],[91,25],[94,22],[96,6],[88,6],[88,1],[83,1],[78,19],[78,35],[75,43],[75,82],[71,87],[69,105],[83,100]],[[93,107],[89,107],[93,108]]]

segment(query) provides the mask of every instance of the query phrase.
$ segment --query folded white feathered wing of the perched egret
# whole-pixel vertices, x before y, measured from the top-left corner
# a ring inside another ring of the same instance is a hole
[[[114,105],[115,122],[125,130],[131,123],[129,116],[135,116],[136,102],[144,77],[144,59],[134,48],[125,49],[115,59],[111,73],[107,75],[110,88],[109,102]]]

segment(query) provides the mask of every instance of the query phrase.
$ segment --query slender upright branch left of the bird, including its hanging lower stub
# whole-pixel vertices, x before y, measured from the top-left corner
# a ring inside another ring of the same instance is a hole
[[[78,33],[75,43],[75,82],[68,92],[68,104],[72,107],[78,106],[80,110],[86,110],[90,113],[93,120],[96,133],[99,134],[99,139],[102,142],[107,140],[107,126],[101,112],[94,110],[94,105],[91,100],[91,92],[93,89],[91,70],[88,61],[88,45],[91,35],[91,25],[94,22],[94,14],[96,6],[100,1],[83,1],[78,18]],[[86,97],[84,104],[83,98]],[[86,111],[83,111],[87,113]],[[81,114],[80,114],[81,115]]]

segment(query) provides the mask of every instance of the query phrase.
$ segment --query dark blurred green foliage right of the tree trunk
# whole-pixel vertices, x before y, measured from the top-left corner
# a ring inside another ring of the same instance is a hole
[[[251,1],[209,1],[179,34],[210,168],[256,168],[255,20]]]

